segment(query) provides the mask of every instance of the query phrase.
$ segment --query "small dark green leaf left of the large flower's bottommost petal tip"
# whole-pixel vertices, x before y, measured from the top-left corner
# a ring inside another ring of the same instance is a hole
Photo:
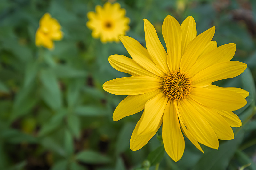
[[[156,165],[157,163],[161,162],[161,160],[164,157],[164,145],[159,146],[158,148],[156,148],[154,151],[150,152],[147,160],[150,161],[151,166]]]

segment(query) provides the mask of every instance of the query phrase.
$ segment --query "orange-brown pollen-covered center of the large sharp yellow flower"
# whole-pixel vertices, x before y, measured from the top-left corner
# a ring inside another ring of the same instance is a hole
[[[182,71],[173,71],[164,77],[164,93],[168,98],[180,100],[188,97],[192,89],[192,83],[187,74]]]

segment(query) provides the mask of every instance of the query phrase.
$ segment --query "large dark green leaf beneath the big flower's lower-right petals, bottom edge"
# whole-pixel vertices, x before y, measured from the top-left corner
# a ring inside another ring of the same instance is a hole
[[[235,139],[220,144],[218,150],[212,149],[210,152],[204,153],[193,170],[226,170],[243,137],[244,132],[240,131]]]

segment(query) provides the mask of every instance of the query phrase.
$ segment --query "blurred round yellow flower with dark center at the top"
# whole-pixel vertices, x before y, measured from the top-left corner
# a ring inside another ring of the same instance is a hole
[[[125,9],[121,8],[119,3],[111,4],[106,2],[103,8],[100,5],[95,7],[96,12],[88,12],[89,21],[87,27],[92,30],[92,37],[100,37],[100,41],[119,41],[118,36],[125,35],[130,28],[130,19],[125,17]]]

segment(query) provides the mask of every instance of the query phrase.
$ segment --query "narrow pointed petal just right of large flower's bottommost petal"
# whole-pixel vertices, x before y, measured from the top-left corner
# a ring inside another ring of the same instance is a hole
[[[174,101],[174,106],[175,106],[175,109],[176,109],[178,117],[179,117],[179,121],[180,121],[180,126],[181,126],[182,132],[191,141],[191,143],[196,146],[197,149],[199,149],[201,152],[204,153],[204,151],[202,150],[200,144],[197,142],[197,140],[194,137],[194,135],[192,135],[192,133],[185,127],[184,123],[182,122],[182,119],[181,119],[181,116],[180,116],[180,111],[179,111],[179,108],[178,108],[177,100]]]

